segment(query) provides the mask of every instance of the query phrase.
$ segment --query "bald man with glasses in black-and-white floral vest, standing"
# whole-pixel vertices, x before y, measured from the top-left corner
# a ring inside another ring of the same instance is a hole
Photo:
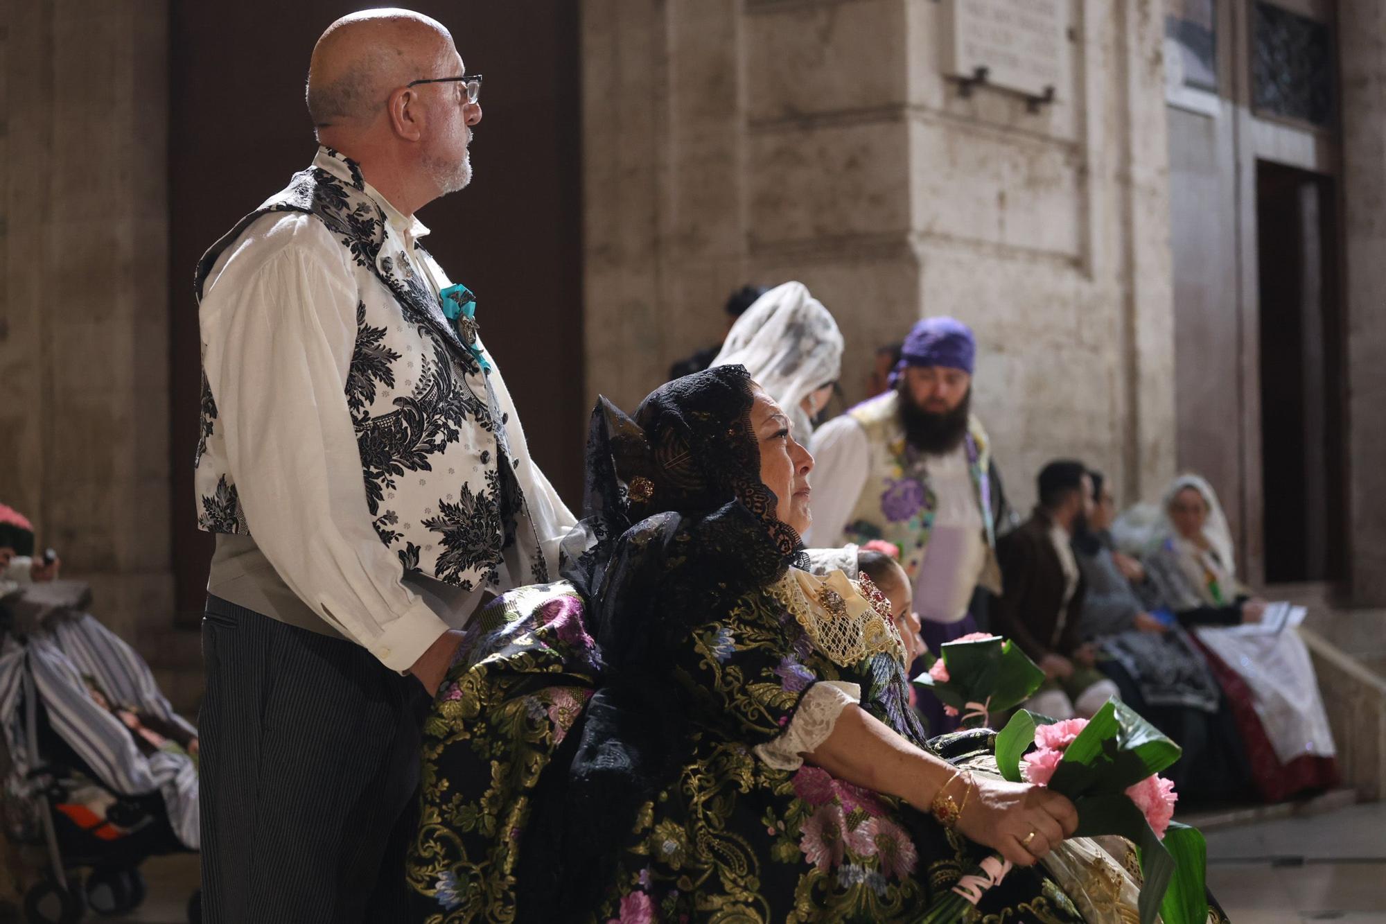
[[[338,19],[317,157],[197,268],[212,923],[403,920],[421,710],[574,523],[414,218],[471,180],[480,89],[427,17]]]

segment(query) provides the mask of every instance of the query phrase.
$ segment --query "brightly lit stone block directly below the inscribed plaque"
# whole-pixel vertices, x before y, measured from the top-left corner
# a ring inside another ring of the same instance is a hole
[[[913,228],[924,234],[1078,257],[1082,158],[1040,139],[916,117]]]

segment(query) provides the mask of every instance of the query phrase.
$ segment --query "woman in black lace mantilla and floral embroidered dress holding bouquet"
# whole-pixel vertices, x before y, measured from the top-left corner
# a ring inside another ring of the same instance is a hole
[[[742,366],[599,401],[565,581],[484,613],[426,726],[419,920],[916,921],[991,853],[965,920],[1135,920],[992,733],[926,741],[869,579],[800,569],[811,469]]]

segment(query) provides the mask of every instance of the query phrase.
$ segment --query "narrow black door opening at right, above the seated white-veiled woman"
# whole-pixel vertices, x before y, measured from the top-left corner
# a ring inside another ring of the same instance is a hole
[[[1258,161],[1265,580],[1343,576],[1343,343],[1332,178]]]

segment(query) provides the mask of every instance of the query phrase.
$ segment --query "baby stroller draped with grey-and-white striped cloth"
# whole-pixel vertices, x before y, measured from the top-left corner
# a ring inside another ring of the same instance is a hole
[[[147,857],[198,849],[195,762],[173,741],[158,746],[141,719],[195,730],[144,660],[79,612],[85,585],[54,584],[0,599],[0,817],[11,844],[43,857],[24,896],[32,924],[129,913],[146,898]],[[188,920],[201,920],[198,892]]]

